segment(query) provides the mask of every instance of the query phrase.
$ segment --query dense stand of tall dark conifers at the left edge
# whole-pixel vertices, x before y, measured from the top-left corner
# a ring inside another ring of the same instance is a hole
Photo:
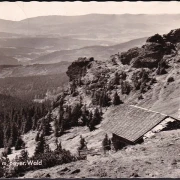
[[[37,130],[39,119],[49,110],[47,103],[34,103],[21,109],[11,109],[0,113],[0,148],[4,154],[11,153],[11,147],[19,150],[24,146],[21,136],[30,130]]]

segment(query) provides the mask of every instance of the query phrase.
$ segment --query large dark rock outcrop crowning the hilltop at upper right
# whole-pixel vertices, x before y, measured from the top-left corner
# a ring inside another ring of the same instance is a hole
[[[168,36],[169,37],[169,36]],[[175,54],[176,46],[168,42],[161,35],[155,34],[149,37],[141,48],[132,48],[121,53],[122,64],[131,65],[134,68],[157,68],[164,55]]]

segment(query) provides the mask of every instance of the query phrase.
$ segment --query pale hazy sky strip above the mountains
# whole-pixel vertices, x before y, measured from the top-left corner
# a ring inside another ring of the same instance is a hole
[[[0,19],[22,20],[46,15],[178,14],[180,2],[0,2]]]

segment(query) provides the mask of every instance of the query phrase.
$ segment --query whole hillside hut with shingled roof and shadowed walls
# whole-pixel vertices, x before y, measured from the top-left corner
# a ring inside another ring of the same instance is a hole
[[[180,120],[166,114],[133,105],[114,106],[105,114],[102,128],[112,133],[114,148],[143,142],[152,134],[180,128]]]

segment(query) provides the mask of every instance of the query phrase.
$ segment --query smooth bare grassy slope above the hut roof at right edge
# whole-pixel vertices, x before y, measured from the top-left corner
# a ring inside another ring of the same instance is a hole
[[[174,77],[174,82],[168,83],[167,79]],[[152,90],[146,93],[145,99],[139,102],[139,106],[151,108],[155,111],[178,118],[180,108],[180,63],[173,67],[166,75],[157,77],[158,83]]]

